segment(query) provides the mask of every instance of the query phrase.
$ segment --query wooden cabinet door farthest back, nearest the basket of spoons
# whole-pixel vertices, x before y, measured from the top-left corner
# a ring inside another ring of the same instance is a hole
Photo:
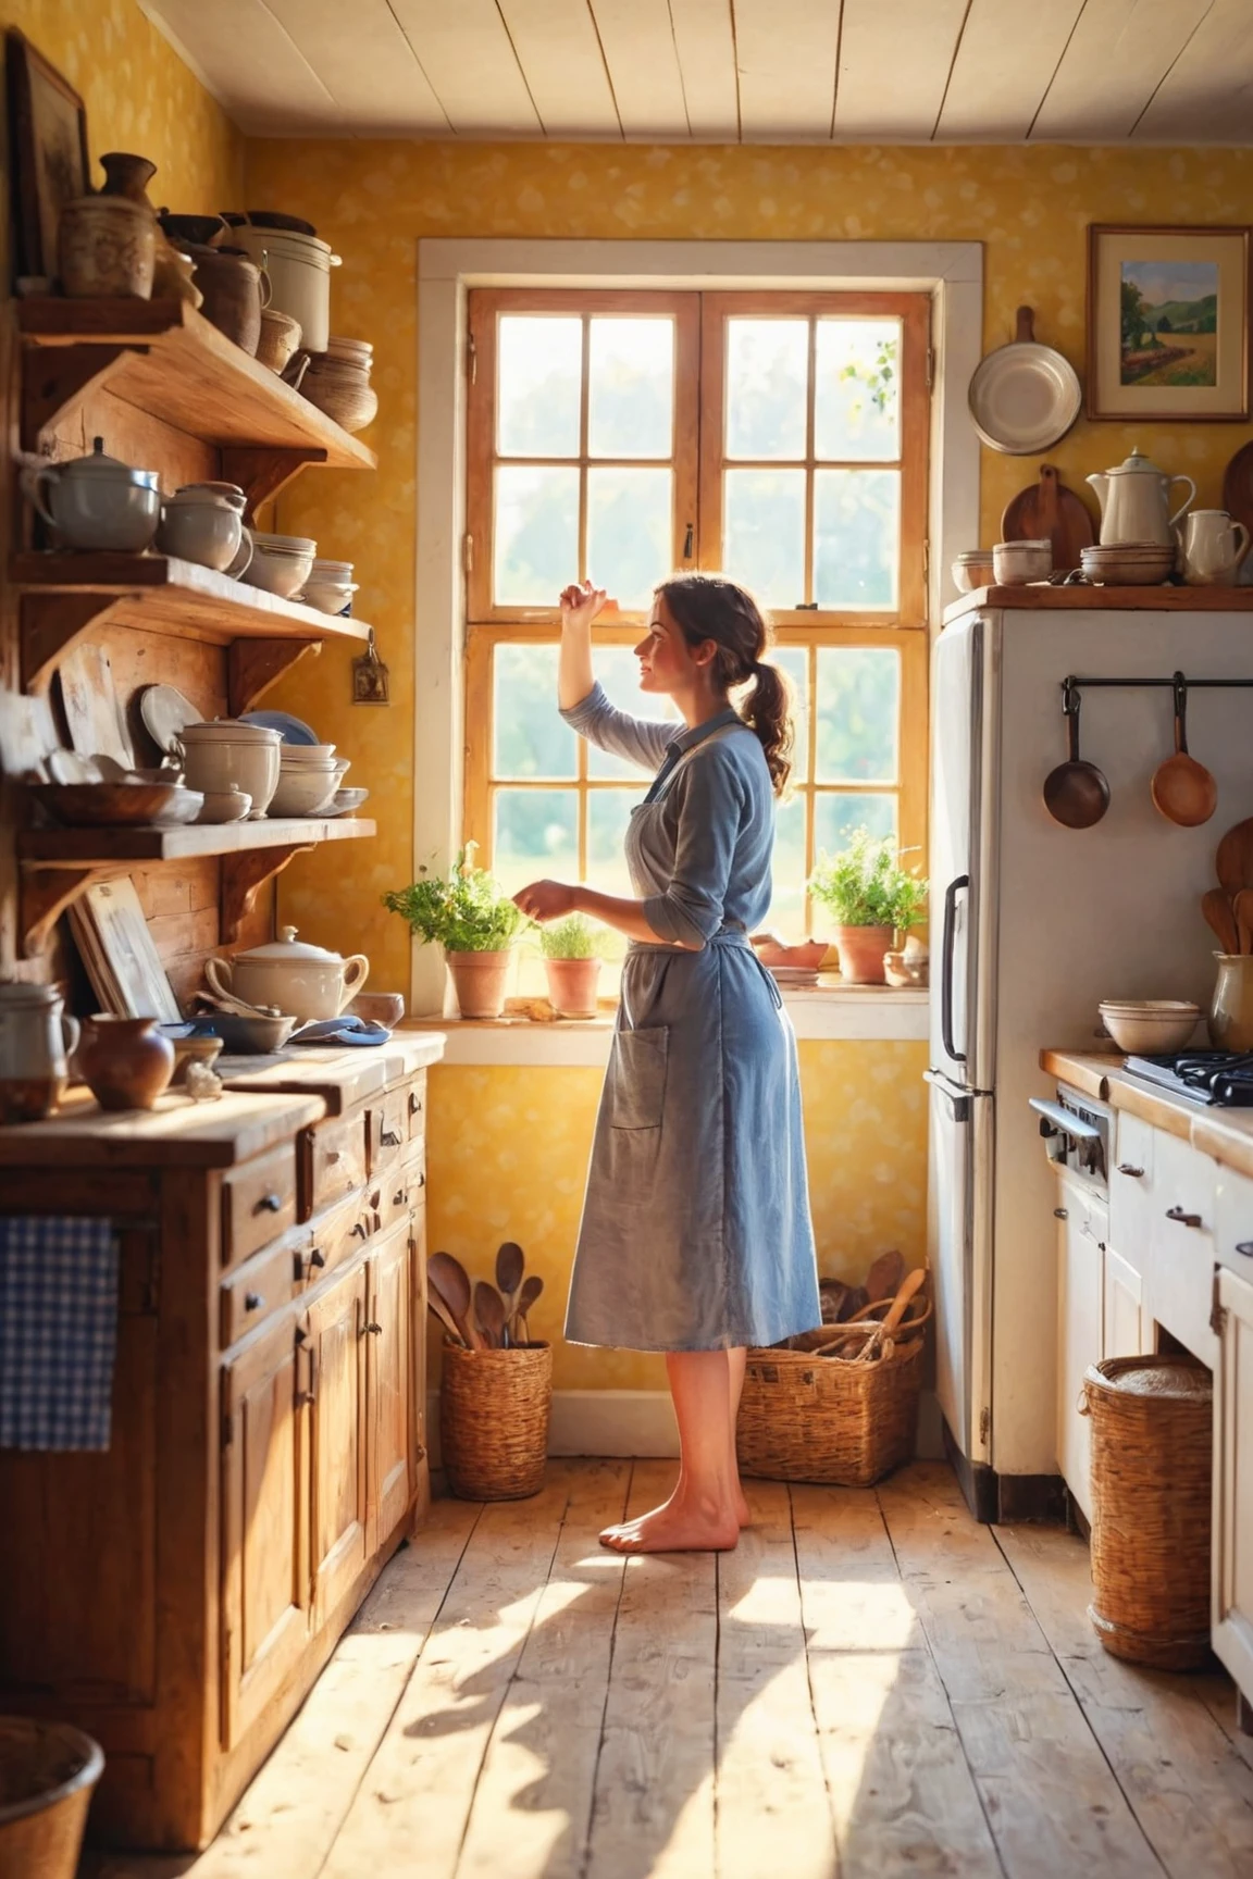
[[[411,1225],[379,1236],[366,1255],[370,1268],[368,1404],[370,1520],[374,1552],[396,1531],[413,1496],[413,1295]]]

